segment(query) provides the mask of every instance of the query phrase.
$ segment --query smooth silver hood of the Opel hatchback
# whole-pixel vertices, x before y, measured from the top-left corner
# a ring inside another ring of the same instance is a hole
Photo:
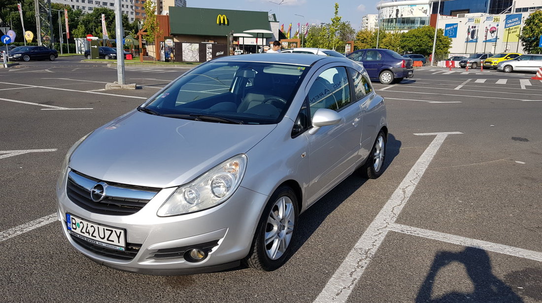
[[[246,153],[276,124],[238,125],[130,112],[95,130],[69,166],[105,182],[167,188]]]

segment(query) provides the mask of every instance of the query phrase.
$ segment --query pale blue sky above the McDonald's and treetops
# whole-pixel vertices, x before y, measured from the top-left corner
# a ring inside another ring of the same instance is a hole
[[[356,30],[361,28],[362,17],[367,14],[377,14],[376,4],[378,1],[371,0],[186,0],[186,6],[191,8],[214,8],[214,9],[233,9],[233,10],[253,10],[269,11],[275,14],[279,24],[292,23],[295,31],[298,22],[330,23],[334,14],[335,2],[339,3],[339,16],[341,21],[350,21],[352,27]],[[272,3],[274,2],[274,3]],[[305,18],[295,14],[305,16]]]

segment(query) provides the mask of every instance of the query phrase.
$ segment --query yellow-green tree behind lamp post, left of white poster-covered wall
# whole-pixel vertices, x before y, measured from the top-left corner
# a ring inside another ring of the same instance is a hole
[[[400,48],[416,54],[430,55],[433,51],[433,38],[435,28],[429,25],[411,29],[401,36]],[[448,53],[451,46],[451,38],[444,36],[444,30],[437,30],[435,57],[441,57]]]

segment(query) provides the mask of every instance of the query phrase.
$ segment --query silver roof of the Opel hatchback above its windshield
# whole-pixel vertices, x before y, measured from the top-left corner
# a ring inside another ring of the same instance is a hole
[[[282,64],[291,64],[291,65],[302,65],[302,66],[311,66],[315,62],[322,59],[336,58],[341,60],[340,57],[331,57],[331,56],[319,56],[314,54],[296,54],[295,56],[281,54],[281,53],[271,53],[271,54],[247,54],[247,55],[237,55],[237,56],[224,56],[218,57],[212,61],[246,61],[246,62],[271,62],[271,63],[282,63]],[[350,60],[344,58],[344,60]]]

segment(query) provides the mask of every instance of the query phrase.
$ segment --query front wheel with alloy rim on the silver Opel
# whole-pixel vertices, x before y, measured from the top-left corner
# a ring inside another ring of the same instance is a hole
[[[248,267],[267,272],[281,267],[292,247],[298,215],[295,192],[289,186],[280,186],[263,210],[250,253],[243,262]]]

